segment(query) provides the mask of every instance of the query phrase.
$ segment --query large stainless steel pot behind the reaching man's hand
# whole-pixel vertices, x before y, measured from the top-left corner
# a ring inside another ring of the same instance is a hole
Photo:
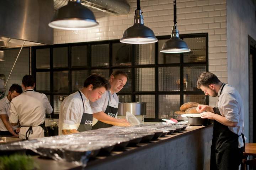
[[[145,102],[131,102],[131,103],[119,103],[118,115],[126,116],[126,112],[130,112],[133,115],[146,115],[146,103]]]

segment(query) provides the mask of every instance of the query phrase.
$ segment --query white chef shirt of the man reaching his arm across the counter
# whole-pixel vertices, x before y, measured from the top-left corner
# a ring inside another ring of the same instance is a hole
[[[110,96],[109,104],[108,104],[108,98],[109,98],[108,94]],[[101,98],[99,98],[95,102],[90,101],[90,105],[92,108],[92,112],[98,113],[98,112],[105,112],[108,105],[114,108],[118,108],[118,101],[119,99],[116,93],[112,95],[110,91],[106,90],[105,93],[101,96]],[[117,118],[117,114],[115,117]],[[92,126],[95,125],[97,122],[98,122],[98,119],[93,118]]]

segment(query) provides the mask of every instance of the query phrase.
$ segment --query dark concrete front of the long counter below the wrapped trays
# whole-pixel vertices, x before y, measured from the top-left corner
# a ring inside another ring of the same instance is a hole
[[[188,126],[185,131],[166,135],[149,143],[139,143],[137,147],[127,147],[123,152],[111,152],[107,157],[96,157],[97,159],[88,162],[85,169],[208,170],[212,131],[212,125]],[[38,157],[35,157],[35,160],[44,169],[47,168],[44,160]],[[48,160],[48,162],[50,166],[50,162],[55,161]],[[57,167],[55,166],[54,169]],[[66,164],[65,167],[57,169],[82,169],[72,164]]]

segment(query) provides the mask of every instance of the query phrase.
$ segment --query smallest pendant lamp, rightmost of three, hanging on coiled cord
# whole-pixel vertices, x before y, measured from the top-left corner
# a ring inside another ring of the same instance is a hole
[[[171,39],[167,40],[160,52],[164,53],[181,53],[181,52],[190,52],[190,49],[187,46],[187,43],[180,39],[179,32],[177,29],[176,21],[176,0],[174,0],[174,26],[172,27]]]

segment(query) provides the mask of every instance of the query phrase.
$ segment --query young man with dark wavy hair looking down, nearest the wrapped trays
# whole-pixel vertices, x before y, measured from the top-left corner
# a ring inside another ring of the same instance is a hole
[[[89,101],[100,99],[110,87],[102,75],[92,74],[87,77],[84,87],[66,97],[60,106],[59,135],[91,130],[92,110]]]

